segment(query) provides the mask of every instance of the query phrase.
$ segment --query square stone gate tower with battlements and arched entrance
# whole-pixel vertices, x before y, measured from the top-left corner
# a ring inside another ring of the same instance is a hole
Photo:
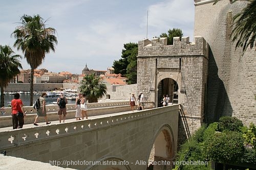
[[[137,58],[137,87],[145,103],[159,107],[164,94],[171,102],[177,95],[183,120],[179,129],[186,129],[183,136],[188,137],[205,115],[208,43],[203,37],[195,37],[194,43],[189,37],[175,37],[173,45],[167,45],[167,38],[144,39],[139,41]]]

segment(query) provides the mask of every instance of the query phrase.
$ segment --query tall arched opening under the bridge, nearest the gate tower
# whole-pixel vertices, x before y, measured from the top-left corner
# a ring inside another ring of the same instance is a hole
[[[172,130],[168,125],[160,129],[148,157],[147,169],[160,170],[173,168],[174,138]]]

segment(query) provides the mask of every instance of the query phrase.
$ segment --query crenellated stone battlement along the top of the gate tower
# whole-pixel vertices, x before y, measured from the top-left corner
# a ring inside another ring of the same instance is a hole
[[[172,55],[204,55],[208,54],[208,43],[201,36],[195,37],[195,42],[189,42],[189,37],[174,37],[173,45],[167,45],[167,38],[144,39],[138,43],[138,57],[142,56],[172,56]]]

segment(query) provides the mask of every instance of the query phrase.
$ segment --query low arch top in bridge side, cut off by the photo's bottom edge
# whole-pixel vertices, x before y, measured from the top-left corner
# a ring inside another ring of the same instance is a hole
[[[96,163],[96,162],[100,162],[100,163]],[[117,162],[121,162],[121,163],[117,163]],[[89,167],[86,168],[86,170],[89,170],[89,169],[90,170],[98,170],[98,169],[131,170],[131,167],[129,166],[129,162],[125,161],[122,158],[118,158],[116,156],[106,156],[96,160],[94,165],[90,165]]]

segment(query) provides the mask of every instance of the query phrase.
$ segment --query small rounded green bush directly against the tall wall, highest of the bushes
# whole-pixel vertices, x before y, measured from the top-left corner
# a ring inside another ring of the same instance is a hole
[[[241,132],[243,127],[242,120],[239,120],[237,117],[223,116],[219,120],[218,129],[223,131],[236,131]]]

